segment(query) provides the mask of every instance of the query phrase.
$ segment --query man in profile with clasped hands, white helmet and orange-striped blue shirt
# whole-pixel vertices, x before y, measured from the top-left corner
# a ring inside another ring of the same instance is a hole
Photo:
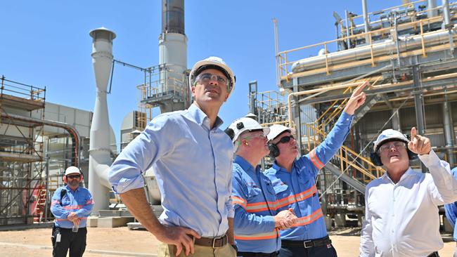
[[[273,186],[258,165],[269,154],[269,131],[248,117],[236,119],[226,129],[236,152],[232,201],[238,256],[277,256],[281,249],[279,230],[290,228],[297,221],[289,209],[276,211]]]

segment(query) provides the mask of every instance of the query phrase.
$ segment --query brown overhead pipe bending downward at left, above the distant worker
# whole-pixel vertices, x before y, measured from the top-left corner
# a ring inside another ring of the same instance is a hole
[[[39,124],[39,125],[44,124],[46,126],[53,126],[56,128],[65,129],[65,131],[70,133],[70,136],[72,137],[72,145],[75,146],[75,150],[72,152],[72,166],[79,166],[79,141],[80,141],[79,133],[70,124],[66,124],[66,123],[60,122],[60,121],[50,121],[47,119],[43,120],[43,119],[24,117],[24,116],[20,116],[20,115],[6,114],[6,113],[1,114],[1,119],[13,119],[15,121],[24,121],[27,123]]]

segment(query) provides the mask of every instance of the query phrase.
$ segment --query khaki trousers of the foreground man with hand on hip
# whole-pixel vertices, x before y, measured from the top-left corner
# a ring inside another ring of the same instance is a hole
[[[173,244],[160,243],[157,247],[157,257],[174,257],[176,246]],[[213,249],[211,246],[194,245],[194,253],[189,253],[191,257],[236,257],[236,250],[230,244],[221,248]],[[179,257],[186,257],[184,249],[179,253]]]

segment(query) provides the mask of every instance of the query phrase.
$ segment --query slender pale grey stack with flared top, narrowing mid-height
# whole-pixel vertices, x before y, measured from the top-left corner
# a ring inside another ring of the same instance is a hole
[[[93,38],[91,56],[97,87],[90,133],[89,191],[94,198],[94,211],[98,211],[107,209],[109,205],[108,171],[112,162],[106,89],[112,67],[112,40],[116,34],[104,27],[94,29],[89,34]]]

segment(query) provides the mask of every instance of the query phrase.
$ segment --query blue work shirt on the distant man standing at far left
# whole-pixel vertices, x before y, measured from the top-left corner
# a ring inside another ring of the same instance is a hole
[[[60,192],[65,189],[65,195],[60,199]],[[75,191],[71,190],[68,185],[58,187],[52,197],[51,213],[56,218],[56,226],[59,228],[72,228],[73,223],[67,219],[68,214],[75,212],[81,223],[79,228],[86,227],[87,217],[91,215],[94,208],[92,195],[84,187],[78,187]]]

